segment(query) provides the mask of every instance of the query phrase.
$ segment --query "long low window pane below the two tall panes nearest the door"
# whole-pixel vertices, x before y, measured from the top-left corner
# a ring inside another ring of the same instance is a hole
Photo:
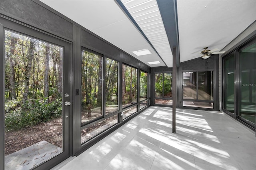
[[[114,115],[104,121],[100,121],[90,127],[84,128],[81,130],[81,142],[84,143],[90,138],[100,134],[104,130],[116,125],[118,123],[117,115]]]

